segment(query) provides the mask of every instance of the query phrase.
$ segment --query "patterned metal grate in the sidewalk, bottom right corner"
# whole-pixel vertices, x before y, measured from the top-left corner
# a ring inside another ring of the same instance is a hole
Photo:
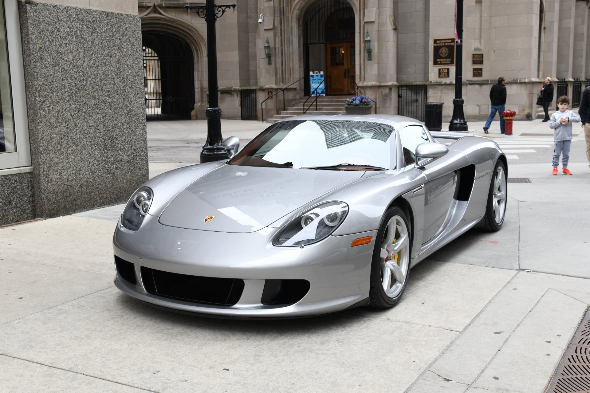
[[[590,308],[549,382],[546,393],[590,393]]]

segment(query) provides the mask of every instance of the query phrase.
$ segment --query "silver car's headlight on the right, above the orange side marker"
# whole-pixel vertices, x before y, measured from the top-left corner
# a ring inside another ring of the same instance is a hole
[[[273,245],[312,244],[328,237],[348,214],[348,205],[340,201],[323,202],[294,218],[278,232]]]

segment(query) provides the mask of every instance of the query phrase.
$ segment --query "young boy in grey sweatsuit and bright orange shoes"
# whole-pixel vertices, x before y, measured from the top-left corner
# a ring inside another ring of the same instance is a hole
[[[572,145],[572,123],[579,122],[580,117],[568,109],[569,99],[567,96],[559,97],[557,106],[559,110],[553,113],[549,120],[549,128],[554,130],[553,141],[555,142],[555,149],[553,150],[553,172],[551,174],[557,175],[559,156],[561,155],[562,173],[564,175],[572,175],[572,172],[568,169],[569,148]]]

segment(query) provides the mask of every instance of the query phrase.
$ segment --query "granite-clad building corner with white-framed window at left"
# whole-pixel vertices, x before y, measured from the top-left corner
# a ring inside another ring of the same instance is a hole
[[[0,225],[148,179],[142,70],[135,0],[0,0]]]

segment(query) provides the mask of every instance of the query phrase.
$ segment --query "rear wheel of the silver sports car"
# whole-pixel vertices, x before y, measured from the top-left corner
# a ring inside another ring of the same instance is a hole
[[[504,223],[506,213],[507,196],[506,167],[498,160],[496,168],[492,172],[490,192],[487,196],[486,215],[484,215],[484,228],[486,231],[495,232]]]

